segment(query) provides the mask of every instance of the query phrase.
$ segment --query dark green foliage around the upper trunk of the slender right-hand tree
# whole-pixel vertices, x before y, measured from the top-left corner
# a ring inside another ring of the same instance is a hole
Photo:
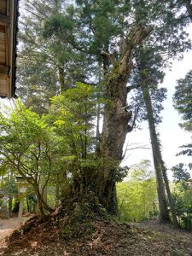
[[[143,99],[143,88],[148,86],[151,97],[154,121],[156,124],[162,120],[160,112],[163,109],[162,102],[166,99],[166,88],[159,88],[163,82],[165,59],[154,48],[142,45],[136,51],[136,68],[131,73],[130,86],[134,88],[131,97],[131,107],[137,120],[147,120],[147,109]]]

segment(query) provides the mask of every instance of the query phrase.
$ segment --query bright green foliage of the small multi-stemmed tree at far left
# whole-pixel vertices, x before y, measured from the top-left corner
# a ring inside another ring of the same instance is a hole
[[[60,141],[44,116],[20,101],[8,117],[0,117],[1,164],[6,164],[31,183],[39,183],[55,171],[55,150]],[[29,179],[30,177],[31,179]]]

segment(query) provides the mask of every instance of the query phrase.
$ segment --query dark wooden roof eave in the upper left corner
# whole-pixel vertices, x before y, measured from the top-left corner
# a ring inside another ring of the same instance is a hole
[[[0,96],[15,96],[19,0],[0,0]]]

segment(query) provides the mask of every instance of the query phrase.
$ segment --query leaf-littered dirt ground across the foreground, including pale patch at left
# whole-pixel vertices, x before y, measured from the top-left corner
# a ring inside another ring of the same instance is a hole
[[[61,220],[61,219],[59,219]],[[6,247],[5,237],[17,226],[17,219],[2,221],[0,255],[12,256],[192,256],[192,233],[177,230],[157,220],[118,224],[96,221],[95,232],[81,239],[59,239],[53,219],[32,230],[15,233]],[[38,225],[36,225],[38,224]],[[61,224],[61,223],[60,223]],[[68,234],[69,235],[69,234]],[[57,238],[58,236],[58,238]],[[11,237],[11,236],[10,236]]]

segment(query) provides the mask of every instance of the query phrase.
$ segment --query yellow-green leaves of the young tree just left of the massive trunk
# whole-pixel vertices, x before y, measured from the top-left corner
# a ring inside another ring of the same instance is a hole
[[[49,120],[68,145],[68,155],[86,158],[94,147],[96,95],[92,86],[77,83],[73,89],[51,99]]]

